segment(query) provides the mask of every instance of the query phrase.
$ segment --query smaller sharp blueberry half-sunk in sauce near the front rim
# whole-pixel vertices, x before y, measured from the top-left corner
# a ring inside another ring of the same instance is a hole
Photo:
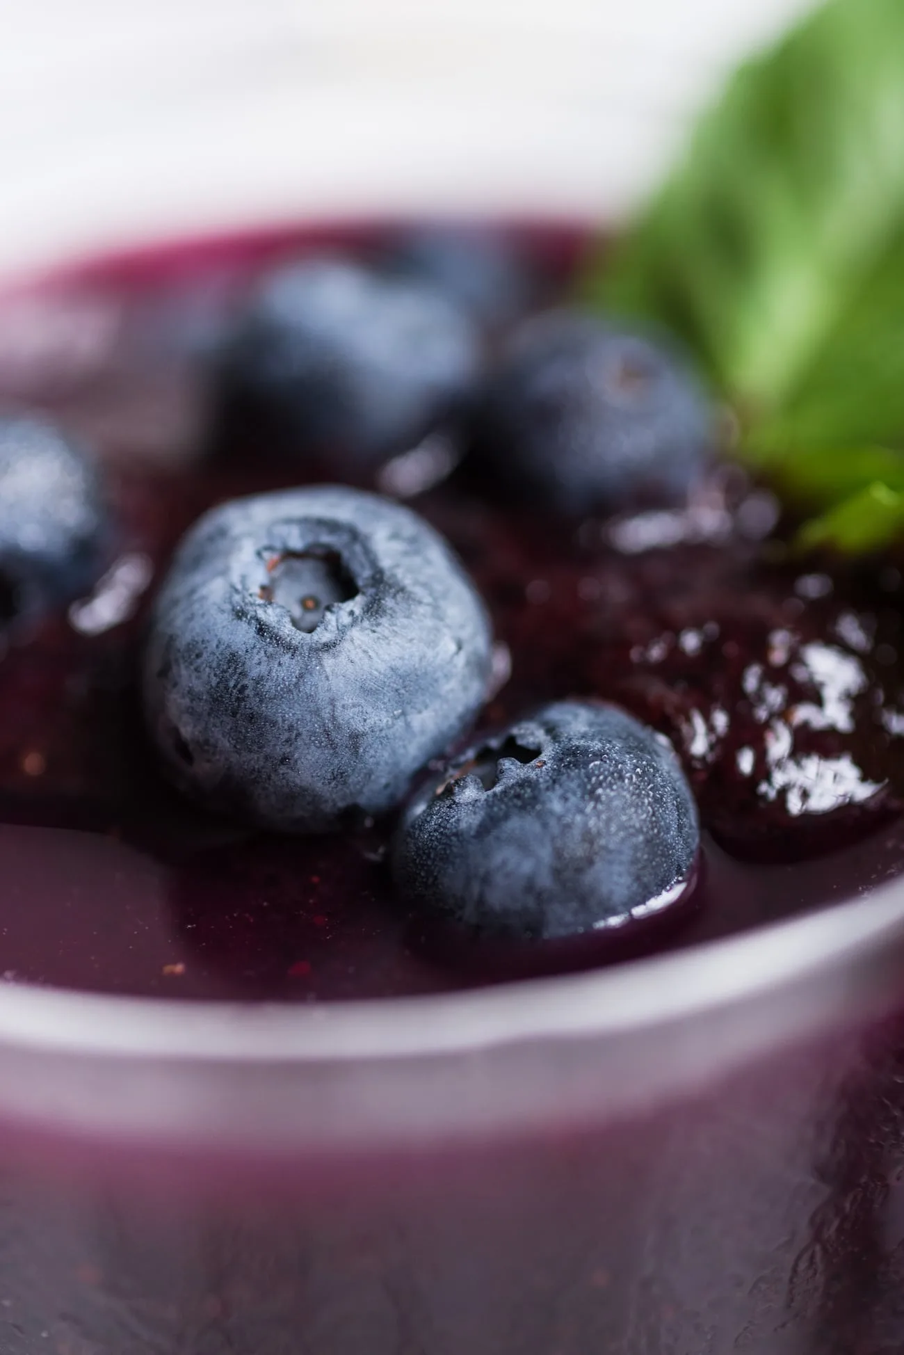
[[[405,813],[403,897],[497,938],[598,932],[670,906],[699,846],[663,736],[613,706],[546,706],[472,749]]]

